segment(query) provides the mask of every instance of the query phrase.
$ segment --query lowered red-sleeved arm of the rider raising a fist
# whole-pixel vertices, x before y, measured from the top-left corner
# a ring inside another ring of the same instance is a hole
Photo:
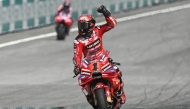
[[[75,66],[80,67],[81,60],[82,60],[82,43],[79,42],[77,39],[74,40],[74,57],[73,63]]]

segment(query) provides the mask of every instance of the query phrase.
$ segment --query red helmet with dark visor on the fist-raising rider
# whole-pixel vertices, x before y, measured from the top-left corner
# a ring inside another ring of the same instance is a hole
[[[82,36],[91,36],[95,27],[95,19],[91,14],[82,14],[78,18],[78,29]]]

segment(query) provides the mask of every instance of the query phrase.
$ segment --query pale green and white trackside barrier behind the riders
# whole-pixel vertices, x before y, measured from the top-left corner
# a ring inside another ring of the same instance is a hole
[[[73,19],[80,14],[99,15],[96,9],[105,5],[110,12],[149,7],[178,0],[71,0]],[[0,0],[0,34],[54,23],[57,7],[63,0]]]

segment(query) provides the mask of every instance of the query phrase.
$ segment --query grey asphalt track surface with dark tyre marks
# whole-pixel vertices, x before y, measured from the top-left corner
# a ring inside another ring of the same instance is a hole
[[[116,17],[190,1],[114,14]],[[190,9],[134,19],[104,34],[104,47],[122,66],[126,108],[190,105]],[[102,17],[97,18],[103,21]],[[2,35],[0,43],[54,32],[53,26]],[[73,73],[72,32],[0,49],[0,106],[91,109]]]

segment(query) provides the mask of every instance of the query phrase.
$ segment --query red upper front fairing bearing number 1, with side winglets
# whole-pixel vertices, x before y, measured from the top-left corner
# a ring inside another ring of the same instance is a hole
[[[94,80],[93,72],[100,72],[104,79],[115,78],[117,76],[116,69],[110,64],[108,58],[108,52],[103,52],[101,55],[87,55],[82,60],[82,71],[78,77],[79,85],[83,86],[92,82]],[[94,64],[96,64],[96,68],[94,68]]]

